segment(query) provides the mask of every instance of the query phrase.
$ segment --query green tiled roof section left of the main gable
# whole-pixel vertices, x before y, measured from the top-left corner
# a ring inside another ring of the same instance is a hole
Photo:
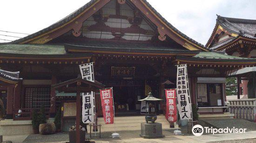
[[[62,55],[62,54],[66,54],[66,51],[63,45],[0,44],[0,53]]]

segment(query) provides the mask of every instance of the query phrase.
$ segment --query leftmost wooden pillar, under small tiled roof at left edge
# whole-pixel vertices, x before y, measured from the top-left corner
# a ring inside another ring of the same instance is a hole
[[[14,94],[14,87],[9,86],[7,89],[7,109],[6,109],[6,117],[8,119],[13,117],[13,94]]]

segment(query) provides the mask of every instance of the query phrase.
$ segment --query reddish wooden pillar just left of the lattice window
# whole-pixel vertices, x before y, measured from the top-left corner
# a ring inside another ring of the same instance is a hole
[[[19,81],[14,90],[14,99],[13,99],[13,109],[19,109],[22,108],[22,81]]]

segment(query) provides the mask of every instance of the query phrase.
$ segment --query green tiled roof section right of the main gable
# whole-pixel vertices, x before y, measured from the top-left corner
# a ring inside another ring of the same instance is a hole
[[[237,57],[237,56],[229,56],[229,55],[224,55],[220,54],[217,52],[200,52],[195,58],[206,58],[206,59],[248,59],[248,58],[242,58],[242,57]]]

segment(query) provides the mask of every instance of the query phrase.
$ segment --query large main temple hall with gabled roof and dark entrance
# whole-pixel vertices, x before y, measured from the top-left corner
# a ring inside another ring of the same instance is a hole
[[[28,122],[20,121],[30,121],[32,109],[41,105],[49,120],[61,108],[62,129],[74,124],[75,93],[55,92],[51,85],[76,78],[78,65],[88,62],[94,62],[95,80],[113,87],[116,116],[140,115],[138,100],[149,92],[165,99],[164,89],[176,88],[178,64],[187,64],[191,102],[199,108],[200,117],[230,116],[225,107],[225,78],[239,68],[255,66],[256,59],[244,57],[244,52],[240,57],[235,55],[239,52],[232,53],[241,46],[242,51],[252,50],[247,45],[254,45],[253,35],[224,28],[218,24],[213,37],[220,36],[209,40],[206,48],[145,0],[92,0],[48,28],[0,44],[1,69],[19,71],[23,78],[11,88],[1,84],[8,110],[0,133],[7,134],[8,125],[31,130]],[[230,47],[225,45],[229,55],[216,39],[231,41]],[[96,108],[100,117],[99,93]],[[22,116],[15,116],[19,110]],[[165,113],[165,101],[159,104],[159,113]]]

